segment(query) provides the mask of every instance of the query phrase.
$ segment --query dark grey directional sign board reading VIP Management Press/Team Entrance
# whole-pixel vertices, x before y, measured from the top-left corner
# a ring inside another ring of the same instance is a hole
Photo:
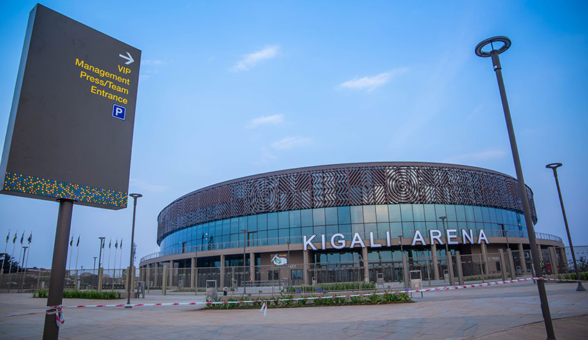
[[[0,193],[126,208],[141,51],[33,8],[0,163]]]

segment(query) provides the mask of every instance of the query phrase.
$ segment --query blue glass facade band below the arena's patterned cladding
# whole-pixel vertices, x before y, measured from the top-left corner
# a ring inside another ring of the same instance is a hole
[[[488,237],[528,238],[523,214],[506,209],[451,204],[382,204],[262,213],[208,222],[167,235],[160,250],[242,248],[243,229],[249,231],[246,237],[250,246],[302,243],[303,235],[319,235],[314,240],[320,242],[321,234],[330,238],[334,233],[342,233],[346,240],[351,240],[353,233],[360,233],[364,240],[369,240],[370,232],[374,238],[385,239],[389,231],[391,238],[402,235],[412,239],[416,230],[424,237],[428,237],[432,229],[444,235],[440,216],[447,217],[446,229],[457,229],[457,235],[461,235],[460,229],[473,229],[477,237],[478,230],[484,229]]]

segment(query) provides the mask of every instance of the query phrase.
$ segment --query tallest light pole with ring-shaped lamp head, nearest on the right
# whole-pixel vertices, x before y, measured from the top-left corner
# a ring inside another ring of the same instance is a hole
[[[494,43],[503,44],[498,50],[494,49]],[[504,118],[506,120],[506,128],[508,130],[508,138],[510,140],[510,149],[512,150],[512,160],[514,161],[514,169],[516,170],[516,181],[519,184],[519,193],[523,205],[523,212],[525,213],[525,224],[527,225],[527,233],[529,235],[529,244],[531,247],[531,256],[535,271],[541,268],[541,260],[539,260],[539,251],[537,250],[537,241],[535,240],[535,228],[531,217],[531,208],[529,206],[529,197],[527,195],[527,187],[525,186],[525,179],[523,178],[523,169],[521,168],[521,159],[519,158],[519,148],[516,147],[516,139],[514,138],[514,128],[512,127],[512,119],[510,118],[510,109],[508,107],[508,100],[506,98],[506,90],[504,88],[504,80],[502,78],[502,66],[499,54],[503,53],[510,47],[510,39],[507,37],[492,37],[485,39],[476,45],[476,55],[478,57],[491,57],[492,66],[496,73],[496,80],[498,81],[498,90],[501,93],[502,106],[504,111]],[[492,51],[485,52],[482,48],[490,45]],[[544,280],[537,280],[537,290],[539,290],[539,300],[541,301],[541,312],[545,322],[545,330],[547,332],[547,339],[555,339],[555,332],[553,331],[553,323],[551,322],[551,312],[549,312],[549,303],[547,301],[547,293],[545,290]]]

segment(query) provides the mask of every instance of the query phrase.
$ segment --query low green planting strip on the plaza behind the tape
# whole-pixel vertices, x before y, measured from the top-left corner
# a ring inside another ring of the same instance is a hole
[[[310,298],[312,296],[302,296],[303,298]],[[342,306],[342,305],[381,305],[385,303],[412,303],[412,299],[406,293],[389,293],[372,296],[350,296],[339,298],[325,298],[324,296],[317,296],[312,300],[296,300],[296,301],[272,301],[277,299],[293,298],[292,295],[271,296],[268,298],[258,298],[257,302],[253,303],[223,303],[219,305],[206,305],[209,310],[233,310],[233,309],[252,309],[260,308],[262,304],[267,301],[268,308],[291,308],[291,307],[313,307],[313,306]],[[208,300],[212,302],[224,301],[221,298]],[[240,298],[228,298],[226,301],[242,301]]]

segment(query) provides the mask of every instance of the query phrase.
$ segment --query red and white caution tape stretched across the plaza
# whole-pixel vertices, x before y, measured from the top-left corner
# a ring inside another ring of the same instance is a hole
[[[300,300],[319,300],[324,298],[351,298],[355,296],[374,296],[374,295],[386,295],[395,293],[420,293],[420,292],[438,292],[442,290],[451,289],[464,289],[464,288],[475,288],[475,287],[487,287],[494,285],[505,285],[507,283],[519,283],[525,281],[535,280],[547,280],[547,281],[564,281],[564,282],[585,282],[578,280],[564,280],[557,278],[518,278],[516,280],[505,280],[505,281],[494,281],[489,283],[475,283],[473,285],[457,285],[457,286],[446,286],[446,287],[434,287],[427,289],[405,289],[401,291],[389,291],[380,293],[367,293],[367,294],[349,294],[349,295],[333,295],[333,296],[310,296],[305,298],[276,298],[271,300],[243,300],[243,301],[199,301],[199,302],[176,302],[176,303],[136,303],[134,305],[128,305],[131,307],[148,307],[148,306],[179,306],[179,305],[227,305],[234,303],[262,303],[263,308],[267,308],[269,302],[281,302],[281,301],[300,301]],[[90,307],[125,307],[124,303],[118,305],[72,305],[72,306],[53,306],[51,308],[90,308]],[[262,312],[262,310],[260,310]]]

